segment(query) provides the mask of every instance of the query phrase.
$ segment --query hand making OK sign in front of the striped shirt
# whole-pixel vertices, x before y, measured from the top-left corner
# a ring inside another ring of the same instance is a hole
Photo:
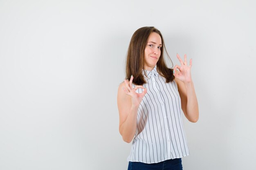
[[[132,105],[139,106],[140,102],[142,101],[142,98],[147,93],[147,88],[143,86],[135,86],[135,88],[132,88],[132,80],[133,80],[133,76],[131,76],[130,81],[128,79],[125,79],[124,80],[125,87],[123,89],[126,95],[131,97]],[[136,90],[138,88],[143,88],[144,91],[142,93],[136,93]]]

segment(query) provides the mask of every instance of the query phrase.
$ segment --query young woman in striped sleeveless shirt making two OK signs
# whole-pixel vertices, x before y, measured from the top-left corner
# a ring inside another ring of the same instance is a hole
[[[126,79],[117,94],[119,132],[132,141],[128,170],[182,170],[181,158],[189,155],[181,110],[198,121],[192,59],[188,64],[186,55],[183,61],[177,54],[180,66],[168,68],[164,49],[154,27],[138,29],[130,40]]]

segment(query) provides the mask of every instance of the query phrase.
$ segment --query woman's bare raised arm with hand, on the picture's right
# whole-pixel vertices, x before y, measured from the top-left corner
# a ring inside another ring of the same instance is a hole
[[[195,88],[191,78],[192,59],[189,66],[186,62],[186,54],[184,55],[184,62],[177,54],[181,66],[175,66],[173,70],[175,73],[175,82],[178,85],[178,91],[181,98],[181,107],[186,118],[191,122],[197,122],[199,119],[198,101],[195,95]],[[179,71],[176,69],[178,68]]]

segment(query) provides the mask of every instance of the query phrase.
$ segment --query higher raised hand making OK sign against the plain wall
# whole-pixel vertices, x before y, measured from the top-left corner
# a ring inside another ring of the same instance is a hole
[[[178,54],[177,54],[177,58],[179,59],[181,66],[176,65],[173,68],[173,71],[174,71],[173,75],[184,83],[192,82],[191,72],[190,72],[191,66],[192,66],[192,59],[190,59],[190,63],[188,66],[186,62],[186,54],[184,55],[184,62],[180,58],[180,55]],[[177,71],[176,69],[178,69],[179,71]]]

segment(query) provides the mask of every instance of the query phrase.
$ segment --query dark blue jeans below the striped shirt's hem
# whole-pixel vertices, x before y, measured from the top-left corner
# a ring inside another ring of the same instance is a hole
[[[159,163],[129,162],[128,170],[182,170],[181,158]]]

